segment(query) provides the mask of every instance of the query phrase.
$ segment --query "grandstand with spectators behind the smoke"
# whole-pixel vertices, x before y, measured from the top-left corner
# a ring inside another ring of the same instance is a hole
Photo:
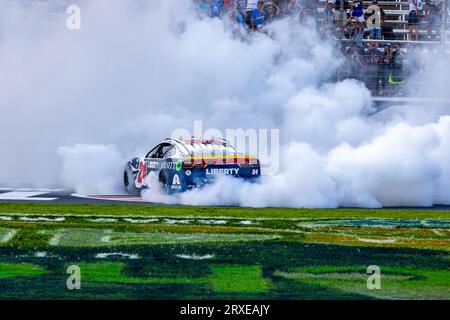
[[[130,0],[130,3],[142,5],[146,1],[151,0]],[[204,0],[196,0],[196,3],[200,6],[202,1]],[[336,41],[337,47],[341,48],[343,56],[347,59],[346,63],[342,65],[342,68],[335,75],[335,80],[354,78],[363,81],[372,92],[375,100],[419,94],[420,88],[411,88],[408,84],[408,82],[411,82],[408,80],[410,74],[413,73],[412,69],[415,70],[415,74],[423,73],[422,69],[417,72],[417,69],[422,66],[418,66],[417,61],[414,60],[416,53],[419,51],[431,53],[444,51],[447,54],[449,53],[449,47],[447,47],[447,44],[450,43],[450,7],[448,6],[448,0],[432,0],[442,1],[442,9],[439,11],[440,16],[435,17],[439,18],[435,20],[439,23],[434,23],[432,27],[429,27],[430,20],[425,18],[425,10],[421,12],[421,15],[424,17],[419,25],[419,38],[417,41],[411,41],[409,37],[408,1],[378,1],[379,7],[384,11],[381,39],[370,39],[369,29],[365,22],[361,23],[362,27],[359,29],[359,36],[355,32],[356,29],[352,26],[350,18],[352,2],[358,0],[349,1],[346,15],[342,15],[341,21],[336,20],[334,13],[336,13],[336,10],[339,10],[337,8],[340,8],[343,1],[348,0],[331,0],[333,14],[327,15],[325,11],[328,10],[328,13],[330,11],[330,8],[327,8],[330,5],[328,4],[329,1],[265,0],[264,8],[266,16],[269,17],[270,15],[270,19],[267,18],[267,21],[271,21],[274,18],[273,12],[276,13],[275,19],[294,14],[302,21],[315,20],[322,36]],[[31,23],[30,21],[38,20],[47,27],[53,27],[60,22],[60,19],[64,19],[65,11],[70,4],[76,3],[83,6],[87,2],[88,0],[0,0],[0,17],[3,11],[11,12],[11,10],[14,11],[20,7],[25,7],[30,9],[26,10],[26,12],[27,14],[30,12],[34,19],[22,17],[22,19],[18,19],[18,24]],[[242,1],[214,0],[213,2],[221,3],[222,10],[225,11],[222,16],[224,19],[232,19],[234,17],[238,21],[237,15],[242,14],[240,21],[247,22],[246,32],[251,32],[248,7],[244,10],[239,10],[240,8],[238,7],[238,4],[242,3]],[[292,3],[296,3],[297,6],[292,6]],[[206,4],[206,7],[211,4]],[[363,1],[363,9],[365,11],[370,5],[372,5],[372,1]],[[269,14],[268,9],[272,8],[272,6],[275,6],[277,9],[270,11]],[[205,3],[203,3],[203,7],[205,7]],[[136,8],[138,9],[139,6]],[[295,8],[297,11],[292,10],[292,8]],[[200,14],[200,9],[198,11]],[[23,13],[24,11],[17,10],[17,12]],[[204,9],[202,14],[205,15]],[[332,17],[332,21],[327,20],[330,17]],[[328,27],[323,29],[320,26],[324,25],[324,23],[328,23]],[[5,32],[5,30],[2,32]],[[357,35],[356,37],[355,34]]]

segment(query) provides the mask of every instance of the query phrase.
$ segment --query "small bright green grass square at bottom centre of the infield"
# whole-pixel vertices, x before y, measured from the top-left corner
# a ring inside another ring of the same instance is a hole
[[[262,276],[260,266],[216,265],[211,267],[211,283],[221,293],[264,293],[269,281]]]

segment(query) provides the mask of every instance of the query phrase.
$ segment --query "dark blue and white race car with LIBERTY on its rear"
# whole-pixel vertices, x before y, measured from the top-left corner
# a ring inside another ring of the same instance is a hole
[[[261,177],[259,160],[239,153],[225,139],[166,139],[145,156],[128,161],[123,175],[128,193],[139,195],[149,188],[146,177],[154,172],[166,193],[183,192],[230,176],[257,182]]]

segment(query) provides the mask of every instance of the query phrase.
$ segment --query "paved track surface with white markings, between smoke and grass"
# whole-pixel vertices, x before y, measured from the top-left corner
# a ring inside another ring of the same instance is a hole
[[[121,195],[84,195],[66,189],[0,188],[0,203],[55,203],[55,204],[130,204],[162,205],[147,202],[140,197]],[[390,209],[396,209],[393,207]],[[400,209],[400,207],[398,207]],[[450,205],[433,207],[401,207],[401,209],[450,210]]]

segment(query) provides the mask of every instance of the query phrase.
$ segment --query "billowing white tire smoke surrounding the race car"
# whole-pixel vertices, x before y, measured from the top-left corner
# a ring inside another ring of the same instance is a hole
[[[280,173],[259,185],[224,178],[177,196],[161,194],[153,179],[147,199],[253,207],[450,203],[448,110],[418,105],[367,117],[362,84],[324,84],[342,61],[312,25],[283,19],[241,40],[219,20],[198,19],[188,1],[149,1],[140,10],[127,3],[83,4],[82,29],[74,32],[64,15],[44,29],[2,16],[0,181],[119,192],[124,159],[203,120],[219,129],[280,128]],[[431,73],[445,83],[448,62],[439,63]],[[434,81],[425,91],[448,97],[441,85],[432,89]]]

